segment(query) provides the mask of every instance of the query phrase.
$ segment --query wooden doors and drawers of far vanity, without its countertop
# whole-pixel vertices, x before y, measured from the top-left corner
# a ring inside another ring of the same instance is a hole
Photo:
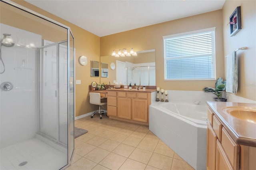
[[[108,102],[109,99],[112,99],[111,94],[108,94]],[[116,115],[112,114],[113,112],[108,114],[112,116],[110,118],[119,120],[121,119],[122,121],[127,120],[128,122],[148,125],[148,114],[149,105],[151,104],[151,93],[116,91],[115,99],[117,101],[117,113]],[[109,106],[114,107],[113,104],[108,104],[108,109]]]

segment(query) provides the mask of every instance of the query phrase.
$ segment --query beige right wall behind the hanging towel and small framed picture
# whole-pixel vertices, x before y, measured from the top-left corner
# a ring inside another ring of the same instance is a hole
[[[241,6],[242,29],[235,36],[230,37],[230,27],[227,23],[237,6]],[[226,0],[222,12],[224,56],[239,47],[248,47],[247,50],[237,51],[238,92],[236,95],[256,101],[256,1]]]

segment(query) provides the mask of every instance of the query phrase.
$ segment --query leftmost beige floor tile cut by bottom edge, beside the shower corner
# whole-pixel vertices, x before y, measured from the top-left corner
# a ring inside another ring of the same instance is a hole
[[[92,162],[86,158],[81,158],[68,167],[68,170],[91,170],[96,165],[97,164],[95,162]]]

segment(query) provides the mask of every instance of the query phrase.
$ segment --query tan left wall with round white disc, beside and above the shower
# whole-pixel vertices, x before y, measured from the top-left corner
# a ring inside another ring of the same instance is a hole
[[[91,105],[89,103],[88,85],[90,85],[92,81],[100,82],[99,77],[90,77],[90,60],[100,61],[100,37],[86,30],[83,30],[82,28],[74,24],[71,24],[66,20],[58,18],[57,16],[54,16],[36,6],[33,6],[23,0],[13,0],[13,2],[70,27],[72,34],[75,38],[74,43],[76,49],[76,79],[81,80],[81,84],[76,85],[76,116],[80,116],[98,109],[96,105]],[[0,3],[2,8],[3,2]],[[14,20],[15,18],[11,18],[10,21]],[[22,26],[22,29],[32,31],[30,30],[31,24],[26,24],[22,20],[16,20],[16,22],[16,27],[19,28],[20,26]],[[42,31],[46,32],[46,30]],[[48,31],[47,34],[49,35],[49,37],[55,36],[54,32]],[[79,56],[81,55],[85,55],[88,58],[88,64],[86,66],[80,65],[78,62]]]

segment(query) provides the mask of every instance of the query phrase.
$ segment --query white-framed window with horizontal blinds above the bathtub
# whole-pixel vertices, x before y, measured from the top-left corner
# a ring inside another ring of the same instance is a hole
[[[215,79],[215,28],[164,36],[165,80]]]

